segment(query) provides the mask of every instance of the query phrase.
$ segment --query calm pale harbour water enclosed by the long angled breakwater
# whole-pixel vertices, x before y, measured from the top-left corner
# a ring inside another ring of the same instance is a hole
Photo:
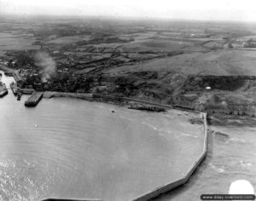
[[[179,177],[202,150],[201,126],[179,112],[65,98],[26,108],[26,98],[0,99],[1,200],[130,200]]]

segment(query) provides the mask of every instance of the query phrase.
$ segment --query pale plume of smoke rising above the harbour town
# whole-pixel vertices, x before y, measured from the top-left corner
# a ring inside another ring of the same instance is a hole
[[[46,78],[50,78],[55,74],[55,60],[46,52],[38,52],[35,55],[36,66],[42,67],[44,73],[42,81],[45,82]]]

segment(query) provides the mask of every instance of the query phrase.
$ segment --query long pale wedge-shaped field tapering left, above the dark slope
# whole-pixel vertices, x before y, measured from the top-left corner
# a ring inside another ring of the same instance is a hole
[[[130,71],[166,71],[203,75],[254,75],[256,76],[256,51],[224,49],[207,53],[176,55],[148,60],[141,64],[119,66],[109,73]]]

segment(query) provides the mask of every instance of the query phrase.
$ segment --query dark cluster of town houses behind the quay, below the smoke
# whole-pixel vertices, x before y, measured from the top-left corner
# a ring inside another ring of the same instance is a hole
[[[100,82],[99,78],[89,77],[84,74],[74,74],[67,68],[55,71],[53,75],[47,75],[40,69],[19,69],[14,73],[15,80],[20,88],[35,89],[38,91],[52,90],[61,92],[103,92],[110,86],[108,83]]]

